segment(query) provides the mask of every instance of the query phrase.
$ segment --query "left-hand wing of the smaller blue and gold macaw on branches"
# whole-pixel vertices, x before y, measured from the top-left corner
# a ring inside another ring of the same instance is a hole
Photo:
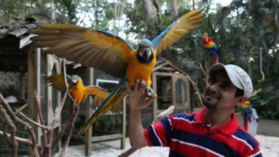
[[[66,79],[69,82],[70,76],[66,75]],[[50,86],[55,87],[59,91],[66,91],[66,84],[62,74],[50,75],[46,80],[47,83],[50,83]]]

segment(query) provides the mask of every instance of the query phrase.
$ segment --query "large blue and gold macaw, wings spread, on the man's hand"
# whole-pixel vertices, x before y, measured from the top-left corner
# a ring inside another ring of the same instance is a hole
[[[31,40],[36,41],[37,47],[50,47],[45,50],[47,53],[82,63],[83,66],[98,67],[114,77],[122,77],[110,96],[80,130],[80,135],[85,133],[98,117],[105,114],[112,104],[126,96],[127,91],[123,87],[126,81],[133,85],[135,80],[144,80],[147,95],[150,95],[151,73],[156,64],[157,54],[197,29],[197,24],[202,22],[203,18],[202,10],[193,10],[180,17],[153,40],[140,40],[137,49],[107,31],[68,24],[41,24],[39,29],[31,30],[31,33],[38,34]]]

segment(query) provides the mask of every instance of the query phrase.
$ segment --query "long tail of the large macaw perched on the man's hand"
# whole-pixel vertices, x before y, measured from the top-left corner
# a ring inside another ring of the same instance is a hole
[[[98,107],[96,112],[93,113],[93,115],[90,117],[89,121],[87,121],[86,124],[84,125],[84,127],[80,130],[80,132],[77,133],[77,136],[82,135],[87,130],[89,130],[91,125],[96,123],[96,121],[101,116],[103,116],[105,113],[107,113],[109,110],[112,110],[112,109],[115,110],[116,108],[119,107],[117,104],[119,104],[119,102],[127,94],[126,89],[123,89],[123,84],[125,84],[125,82],[126,82],[126,78],[123,78],[119,82],[119,84],[117,84],[117,87],[112,91],[112,93],[109,96],[107,96],[107,98],[103,101],[103,103],[100,105],[100,107]],[[114,105],[116,105],[116,107]]]

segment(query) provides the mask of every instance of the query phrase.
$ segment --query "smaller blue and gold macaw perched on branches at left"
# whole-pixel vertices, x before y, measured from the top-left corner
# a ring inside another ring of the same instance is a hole
[[[82,105],[90,95],[95,96],[95,104],[100,105],[100,102],[103,102],[103,100],[109,95],[109,93],[101,87],[84,86],[82,78],[78,75],[66,75],[66,80],[68,82],[69,93],[73,97],[73,100],[76,101],[76,105]],[[64,83],[64,77],[62,74],[50,75],[47,77],[47,83],[50,83],[50,86],[55,87],[59,91],[66,91],[66,84]],[[112,112],[117,114],[122,112],[120,103],[112,106]]]

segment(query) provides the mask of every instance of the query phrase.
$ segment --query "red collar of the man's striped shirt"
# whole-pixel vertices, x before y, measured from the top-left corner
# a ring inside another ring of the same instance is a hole
[[[198,124],[206,124],[206,121],[204,119],[204,112],[206,111],[206,109],[206,107],[203,107],[201,111],[195,113],[195,121]],[[225,133],[227,135],[233,135],[238,128],[239,123],[236,119],[236,115],[232,114],[232,119],[227,124],[224,124],[223,126],[218,126],[213,130],[220,130],[222,133]]]

